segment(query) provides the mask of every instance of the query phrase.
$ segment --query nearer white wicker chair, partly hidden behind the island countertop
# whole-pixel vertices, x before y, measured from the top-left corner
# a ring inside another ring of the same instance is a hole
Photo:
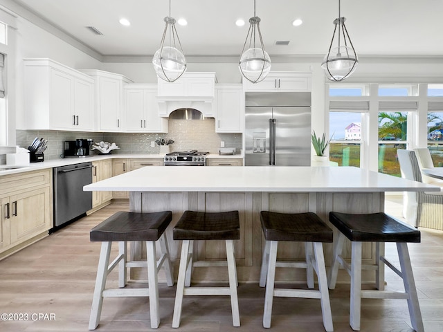
[[[401,177],[422,181],[417,156],[413,150],[397,150]],[[443,192],[404,192],[403,216],[415,227],[443,230]]]

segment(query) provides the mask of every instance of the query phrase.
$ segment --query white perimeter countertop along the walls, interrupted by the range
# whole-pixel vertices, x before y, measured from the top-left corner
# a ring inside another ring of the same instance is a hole
[[[165,157],[164,154],[109,154],[109,155],[91,155],[87,157],[69,157],[69,158],[59,158],[59,159],[52,159],[47,161],[42,161],[40,163],[30,163],[29,165],[0,165],[0,176],[2,175],[9,175],[9,174],[16,174],[16,173],[22,173],[22,172],[30,172],[30,171],[36,171],[38,169],[46,169],[46,168],[53,168],[53,167],[60,167],[60,166],[66,166],[66,165],[73,165],[73,164],[79,164],[79,163],[87,163],[89,161],[97,161],[97,160],[103,160],[103,159],[109,159],[109,158],[153,158],[153,159],[163,159]],[[235,155],[224,155],[220,156],[219,154],[208,154],[206,155],[207,159],[215,159],[215,158],[243,158],[240,154]],[[8,170],[2,170],[2,168],[8,168],[8,167],[19,167],[16,169],[8,169]]]

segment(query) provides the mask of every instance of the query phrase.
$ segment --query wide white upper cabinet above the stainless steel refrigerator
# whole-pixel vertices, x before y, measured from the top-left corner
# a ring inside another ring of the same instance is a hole
[[[273,71],[262,82],[243,80],[244,91],[311,91],[311,73]]]

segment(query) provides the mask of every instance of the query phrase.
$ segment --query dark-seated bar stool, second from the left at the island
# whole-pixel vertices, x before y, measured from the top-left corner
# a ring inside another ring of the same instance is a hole
[[[174,227],[174,240],[183,240],[177,294],[175,296],[172,327],[180,325],[183,295],[230,295],[230,306],[233,325],[240,326],[239,306],[237,297],[237,270],[235,267],[234,241],[240,239],[240,223],[238,211],[229,212],[195,212],[185,211]],[[194,240],[225,240],[226,261],[194,261]],[[228,287],[197,287],[190,286],[192,267],[228,266]]]

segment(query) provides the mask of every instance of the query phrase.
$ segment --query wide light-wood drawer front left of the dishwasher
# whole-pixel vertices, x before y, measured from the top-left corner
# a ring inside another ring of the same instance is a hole
[[[19,190],[28,190],[31,187],[49,185],[52,181],[52,174],[53,170],[50,168],[0,176],[0,196]]]

